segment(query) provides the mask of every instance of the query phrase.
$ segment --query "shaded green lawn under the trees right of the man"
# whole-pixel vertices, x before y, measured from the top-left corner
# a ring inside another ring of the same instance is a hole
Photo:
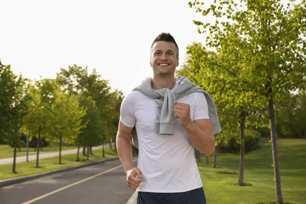
[[[278,139],[282,194],[285,203],[305,203],[306,200],[306,140]],[[245,155],[244,183],[237,186],[239,155],[217,155],[217,168],[212,168],[213,156],[206,164],[205,156],[198,162],[203,189],[210,204],[273,203],[275,190],[271,143],[262,139],[261,147]]]

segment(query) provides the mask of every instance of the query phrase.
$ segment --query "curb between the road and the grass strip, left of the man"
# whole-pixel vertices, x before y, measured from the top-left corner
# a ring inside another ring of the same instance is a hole
[[[106,159],[106,160],[102,160],[102,161],[98,161],[98,162],[81,164],[81,165],[78,165],[78,166],[71,166],[71,167],[62,168],[62,169],[56,169],[56,170],[47,171],[47,172],[44,172],[44,173],[39,173],[39,174],[34,174],[34,175],[17,177],[15,179],[3,180],[3,181],[0,181],[0,188],[5,187],[5,186],[10,186],[10,185],[13,185],[13,184],[18,184],[18,183],[25,182],[25,181],[38,179],[38,178],[43,177],[43,176],[52,175],[52,174],[56,174],[56,173],[62,173],[62,172],[66,172],[66,171],[71,171],[71,170],[74,170],[74,169],[80,169],[80,168],[83,168],[83,167],[92,166],[92,165],[96,165],[96,164],[101,164],[101,163],[116,160],[116,159],[119,159],[119,157]]]

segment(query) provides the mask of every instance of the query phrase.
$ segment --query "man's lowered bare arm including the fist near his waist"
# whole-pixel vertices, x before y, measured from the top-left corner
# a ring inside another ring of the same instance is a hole
[[[135,190],[142,181],[142,172],[138,168],[134,168],[131,134],[133,127],[125,126],[119,121],[118,132],[116,136],[117,152],[126,174],[126,183],[131,189]],[[139,176],[137,179],[136,176]]]

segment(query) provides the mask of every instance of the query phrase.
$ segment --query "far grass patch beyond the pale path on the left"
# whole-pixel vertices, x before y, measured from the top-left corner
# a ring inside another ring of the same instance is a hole
[[[59,151],[59,144],[50,142],[50,144],[46,147],[43,147],[42,150],[39,149],[39,154],[44,154],[48,152],[54,152],[54,151]],[[73,145],[67,145],[67,144],[62,144],[62,150],[69,150],[69,149],[75,149],[78,148],[78,146],[73,146]],[[17,155],[16,157],[21,157],[25,156],[27,153],[27,148],[23,147],[20,149],[17,148]],[[34,148],[29,148],[29,155],[34,155],[36,154],[36,151]],[[0,159],[6,159],[6,158],[12,158],[14,157],[14,148],[10,147],[9,145],[0,145]]]

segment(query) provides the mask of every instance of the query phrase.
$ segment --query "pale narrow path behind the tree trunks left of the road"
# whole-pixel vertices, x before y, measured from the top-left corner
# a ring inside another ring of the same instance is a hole
[[[114,144],[114,143],[113,143]],[[110,144],[107,143],[104,146],[107,147]],[[92,147],[92,149],[99,149],[102,148],[103,146],[95,146]],[[80,152],[82,154],[82,149],[80,148]],[[76,154],[78,152],[78,149],[70,149],[70,150],[64,150],[61,152],[61,155],[71,155],[71,154]],[[39,154],[39,159],[44,159],[44,158],[50,158],[50,157],[58,157],[59,156],[59,151],[57,152],[50,152],[50,153],[43,153]],[[31,160],[36,160],[36,154],[35,155],[29,155],[28,157],[29,161]],[[5,165],[5,164],[13,164],[14,158],[7,158],[7,159],[0,159],[0,165]],[[20,162],[26,162],[27,161],[27,156],[22,156],[22,157],[16,157],[16,163]]]

